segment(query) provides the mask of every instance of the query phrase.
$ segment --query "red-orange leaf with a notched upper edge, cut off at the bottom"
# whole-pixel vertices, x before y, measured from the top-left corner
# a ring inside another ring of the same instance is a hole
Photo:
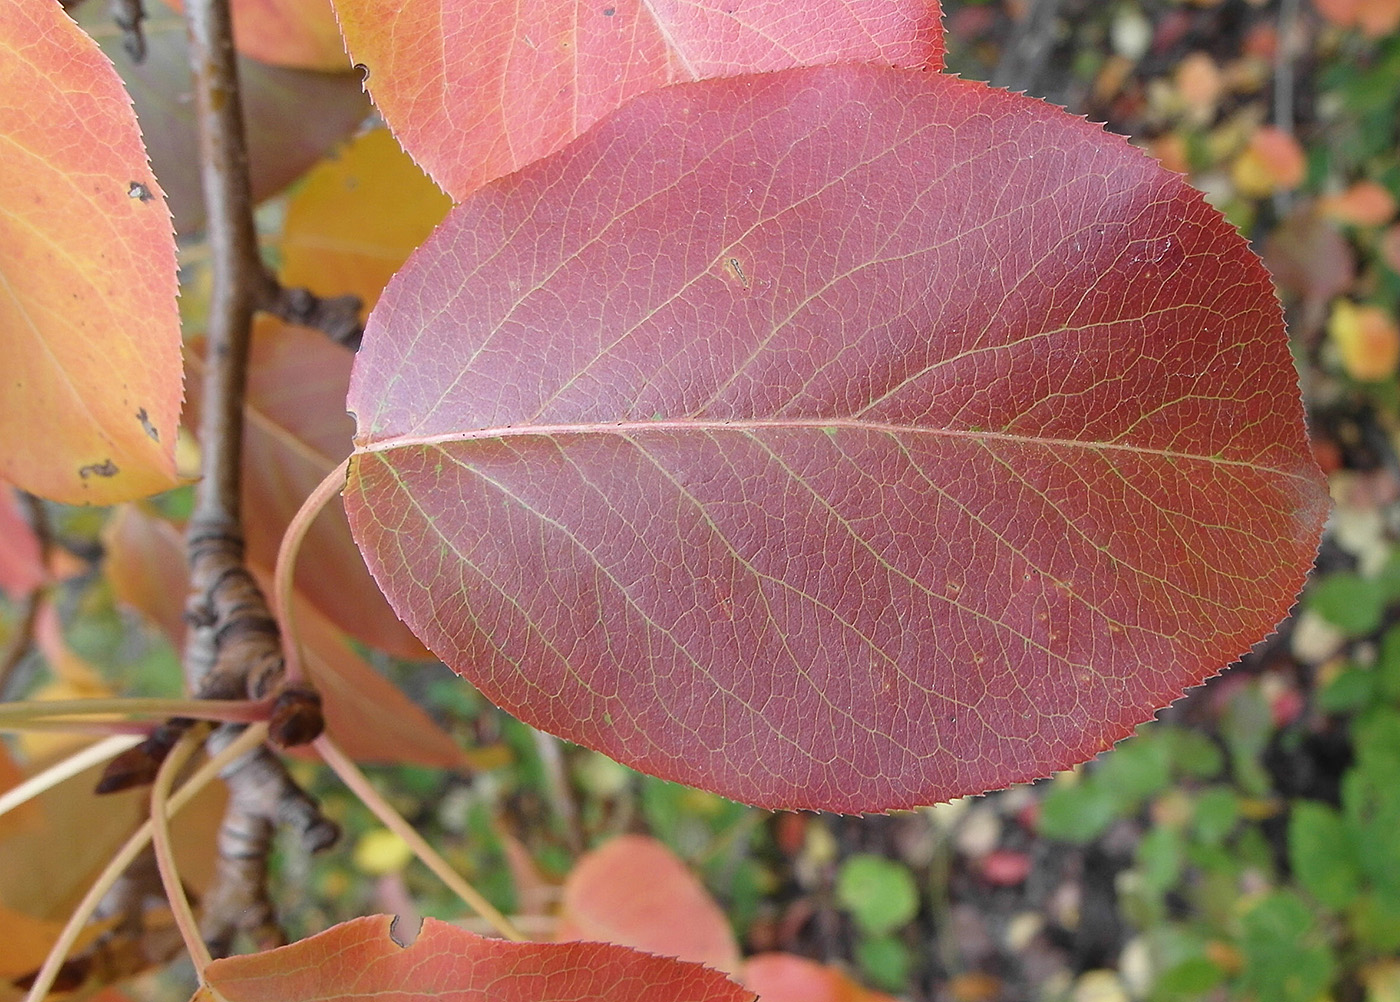
[[[722,974],[606,943],[507,943],[426,919],[402,947],[389,915],[280,950],[216,960],[195,1002],[752,1002]],[[216,996],[214,992],[218,992]]]

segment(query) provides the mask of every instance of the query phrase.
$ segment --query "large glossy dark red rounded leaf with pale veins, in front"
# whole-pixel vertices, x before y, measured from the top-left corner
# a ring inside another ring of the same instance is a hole
[[[536,726],[867,810],[1109,747],[1289,609],[1327,508],[1268,277],[1176,175],[951,77],[644,95],[389,284],[351,529]]]

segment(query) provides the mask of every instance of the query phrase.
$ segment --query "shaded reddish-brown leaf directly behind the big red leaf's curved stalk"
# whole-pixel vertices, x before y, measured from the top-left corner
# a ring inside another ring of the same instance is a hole
[[[349,348],[325,334],[263,316],[253,330],[244,407],[244,511],[248,558],[276,567],[281,536],[301,502],[349,452],[354,423],[346,414]],[[190,357],[186,421],[197,424],[204,362]],[[297,591],[351,637],[400,658],[426,651],[399,621],[335,505],[316,518],[297,561]]]

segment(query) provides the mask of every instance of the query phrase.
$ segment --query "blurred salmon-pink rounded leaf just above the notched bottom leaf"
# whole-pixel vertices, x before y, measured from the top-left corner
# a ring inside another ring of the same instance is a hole
[[[671,849],[644,835],[622,835],[578,861],[564,882],[554,938],[739,968],[739,945],[720,905]]]

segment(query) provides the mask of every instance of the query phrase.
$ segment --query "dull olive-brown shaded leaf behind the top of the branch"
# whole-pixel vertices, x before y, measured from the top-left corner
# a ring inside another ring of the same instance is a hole
[[[146,13],[146,59],[133,63],[106,4],[85,3],[74,10],[78,24],[102,45],[132,92],[175,230],[193,234],[204,225],[204,200],[185,18],[158,3],[147,3]],[[370,113],[358,73],[314,73],[239,59],[238,83],[248,122],[253,199],[259,202],[301,176]]]

